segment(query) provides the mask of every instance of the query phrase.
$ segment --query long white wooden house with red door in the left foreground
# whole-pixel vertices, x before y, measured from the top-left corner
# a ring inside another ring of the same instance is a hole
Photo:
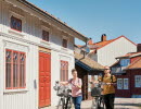
[[[70,77],[74,39],[88,38],[26,0],[0,0],[0,109],[54,106]]]

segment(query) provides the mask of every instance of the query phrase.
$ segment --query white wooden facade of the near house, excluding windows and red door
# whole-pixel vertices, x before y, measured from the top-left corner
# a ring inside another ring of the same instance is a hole
[[[13,0],[14,1],[14,0]],[[68,48],[62,47],[64,37],[59,28],[50,27],[50,43],[42,41],[40,20],[29,13],[16,10],[11,12],[11,4],[0,0],[0,109],[38,109],[38,80],[39,80],[39,55],[38,47],[51,49],[51,105],[56,105],[57,96],[53,90],[55,81],[60,78],[60,60],[68,61],[69,77],[74,68],[74,37],[67,36]],[[15,13],[22,13],[23,16]],[[23,19],[23,32],[14,32],[10,28],[10,15],[14,14]],[[11,46],[10,46],[11,45]],[[4,57],[5,48],[24,51],[27,55],[26,81],[27,88],[24,90],[7,90],[4,87]],[[35,86],[35,83],[36,86]]]

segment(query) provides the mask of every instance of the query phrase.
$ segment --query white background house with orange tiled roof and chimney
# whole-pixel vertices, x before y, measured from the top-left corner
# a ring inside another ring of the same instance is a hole
[[[102,65],[110,66],[116,62],[116,57],[137,51],[137,45],[125,36],[107,40],[107,36],[103,34],[101,41],[93,43],[91,39],[88,45],[91,49],[89,57]]]

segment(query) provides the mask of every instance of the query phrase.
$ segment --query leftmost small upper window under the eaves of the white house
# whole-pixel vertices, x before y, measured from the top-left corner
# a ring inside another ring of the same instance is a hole
[[[11,16],[11,28],[22,32],[22,20]]]

